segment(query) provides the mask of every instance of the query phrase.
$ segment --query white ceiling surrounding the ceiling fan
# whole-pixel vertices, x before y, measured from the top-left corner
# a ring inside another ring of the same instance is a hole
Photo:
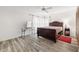
[[[49,6],[47,6],[49,7]],[[73,6],[51,6],[52,9],[48,9],[48,13],[42,11],[42,6],[4,6],[0,7],[0,10],[8,10],[9,12],[22,12],[34,15],[51,15],[60,12],[73,10],[75,7]]]

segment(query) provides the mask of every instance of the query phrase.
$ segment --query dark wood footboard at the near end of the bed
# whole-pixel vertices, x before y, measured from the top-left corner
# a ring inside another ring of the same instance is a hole
[[[37,28],[37,35],[50,39],[56,43],[56,30],[48,28]]]

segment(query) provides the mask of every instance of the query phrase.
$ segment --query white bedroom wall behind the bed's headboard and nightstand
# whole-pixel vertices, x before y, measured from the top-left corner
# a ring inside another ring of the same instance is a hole
[[[76,7],[70,7],[65,11],[62,9],[61,12],[52,14],[50,22],[55,20],[66,23],[70,28],[70,35],[76,37]]]

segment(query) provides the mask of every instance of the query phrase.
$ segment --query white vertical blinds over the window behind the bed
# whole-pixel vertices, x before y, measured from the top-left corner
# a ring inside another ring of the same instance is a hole
[[[49,25],[49,18],[33,16],[33,27],[35,28],[35,32],[37,31],[37,27],[45,27],[48,25]]]

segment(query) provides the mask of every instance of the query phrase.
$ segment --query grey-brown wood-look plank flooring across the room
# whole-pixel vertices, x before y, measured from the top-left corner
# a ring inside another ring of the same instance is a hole
[[[77,52],[78,47],[73,44],[37,37],[25,36],[0,42],[0,52]]]

